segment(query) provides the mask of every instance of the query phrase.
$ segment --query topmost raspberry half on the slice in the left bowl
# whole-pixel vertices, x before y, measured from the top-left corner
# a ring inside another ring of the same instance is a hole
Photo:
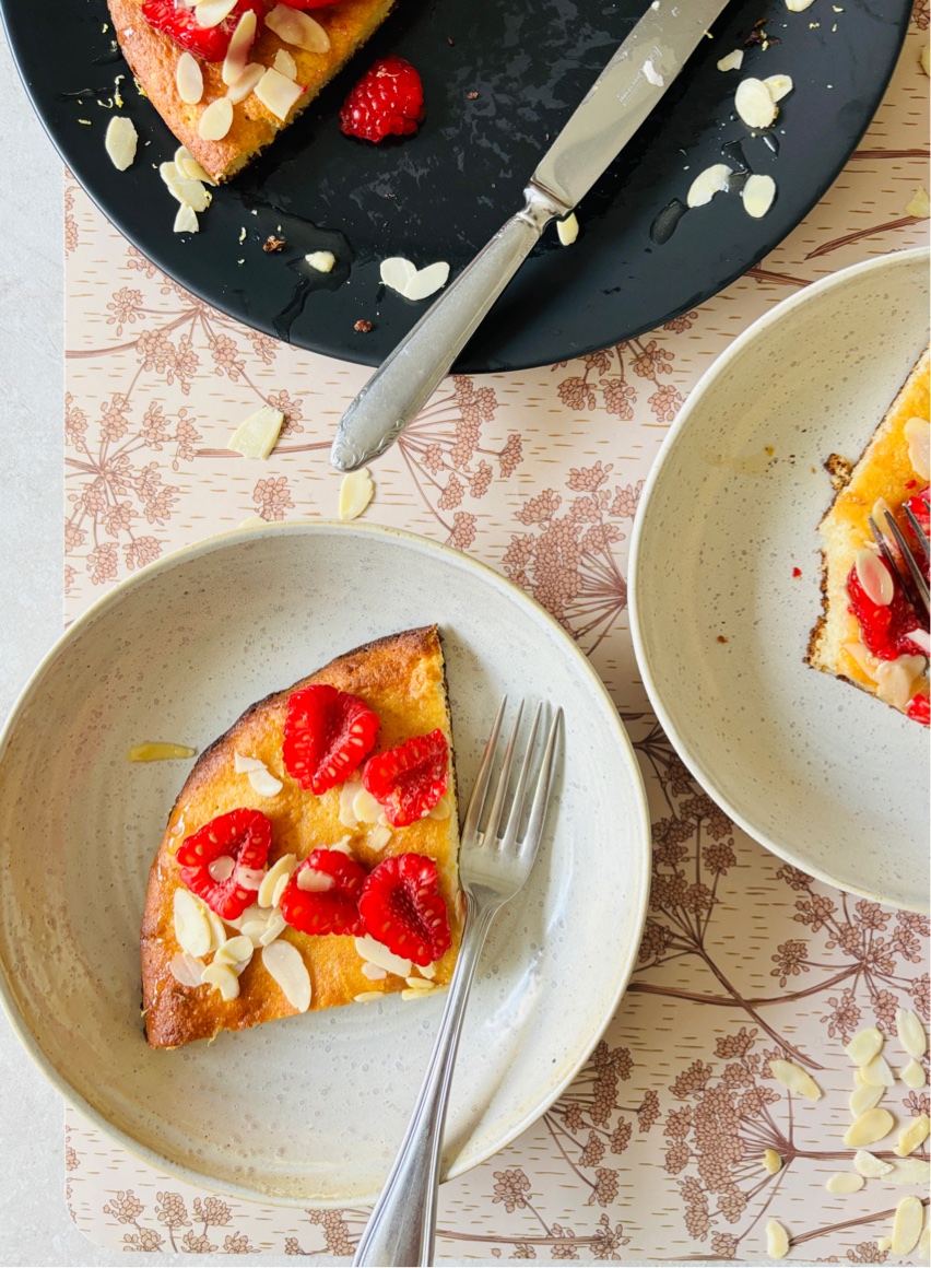
[[[293,692],[282,757],[302,789],[321,796],[345,784],[372,752],[378,715],[359,696],[326,683]]]

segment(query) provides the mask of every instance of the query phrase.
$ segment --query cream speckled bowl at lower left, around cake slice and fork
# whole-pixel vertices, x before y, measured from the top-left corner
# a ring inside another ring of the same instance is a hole
[[[500,695],[566,711],[550,831],[469,1004],[446,1129],[455,1175],[554,1099],[611,1018],[649,883],[643,786],[606,691],[531,600],[455,552],[360,525],[240,531],[107,595],[37,671],[0,741],[4,1004],[44,1073],[157,1167],[232,1196],[365,1202],[412,1107],[443,997],[359,1004],[152,1051],[138,928],[190,762],[254,700],[381,634],[436,620],[468,794]],[[595,754],[597,760],[595,761]]]

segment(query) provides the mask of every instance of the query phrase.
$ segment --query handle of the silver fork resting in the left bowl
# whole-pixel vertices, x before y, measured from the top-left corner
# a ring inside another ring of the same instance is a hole
[[[459,959],[430,1064],[403,1144],[372,1211],[353,1264],[419,1268],[433,1263],[443,1125],[453,1064],[478,956],[498,912],[497,905],[483,907],[479,912],[473,899],[464,896],[466,926]]]

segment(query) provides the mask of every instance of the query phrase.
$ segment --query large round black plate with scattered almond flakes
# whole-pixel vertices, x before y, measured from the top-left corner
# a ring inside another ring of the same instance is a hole
[[[687,4],[689,0],[681,0]],[[33,104],[77,180],[160,269],[249,326],[301,347],[379,364],[421,316],[379,283],[378,265],[406,255],[462,269],[523,204],[521,189],[647,0],[398,0],[397,11],[268,153],[218,189],[195,236],[171,231],[176,204],[155,166],[176,142],[131,76],[124,112],[148,142],[117,171],[104,152],[110,112],[98,104],[127,74],[113,52],[104,0],[0,0]],[[785,0],[733,0],[654,115],[580,209],[571,249],[549,230],[458,369],[519,369],[633,337],[701,303],[756,264],[807,214],[869,126],[904,38],[909,0],[831,0],[791,14]],[[769,47],[746,49],[739,72],[717,61],[756,23]],[[776,43],[779,41],[779,43]],[[419,67],[427,119],[416,137],[372,146],[339,131],[340,104],[387,52]],[[745,75],[790,75],[769,137],[733,114]],[[477,94],[473,96],[473,94]],[[91,126],[81,123],[90,119]],[[778,151],[778,152],[774,152]],[[729,156],[771,172],[778,198],[751,219],[738,197],[689,212],[668,241],[691,179]],[[741,157],[742,156],[742,157]],[[665,208],[666,223],[657,216]],[[287,246],[265,254],[278,226]],[[240,243],[245,227],[246,240]],[[303,265],[332,249],[329,276]],[[241,261],[241,262],[240,262]],[[359,318],[373,322],[356,333]]]

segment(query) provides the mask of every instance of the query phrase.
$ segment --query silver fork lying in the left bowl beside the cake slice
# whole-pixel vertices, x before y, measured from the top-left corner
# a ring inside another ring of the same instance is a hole
[[[523,702],[518,708],[514,729],[505,748],[501,772],[483,829],[479,829],[479,822],[491,784],[506,705],[507,697],[501,701],[486,744],[462,829],[459,880],[466,895],[466,919],[459,959],[449,985],[449,998],[407,1134],[361,1235],[354,1264],[386,1265],[386,1268],[389,1264],[403,1264],[406,1268],[415,1268],[433,1263],[443,1125],[466,1002],[491,922],[523,886],[537,857],[547,817],[562,718],[562,709],[557,709],[543,744],[539,773],[534,781],[528,810],[525,803],[530,768],[534,765],[543,714],[543,706],[538,706],[504,832],[498,834],[524,711]],[[521,836],[520,825],[525,814],[526,828]]]

